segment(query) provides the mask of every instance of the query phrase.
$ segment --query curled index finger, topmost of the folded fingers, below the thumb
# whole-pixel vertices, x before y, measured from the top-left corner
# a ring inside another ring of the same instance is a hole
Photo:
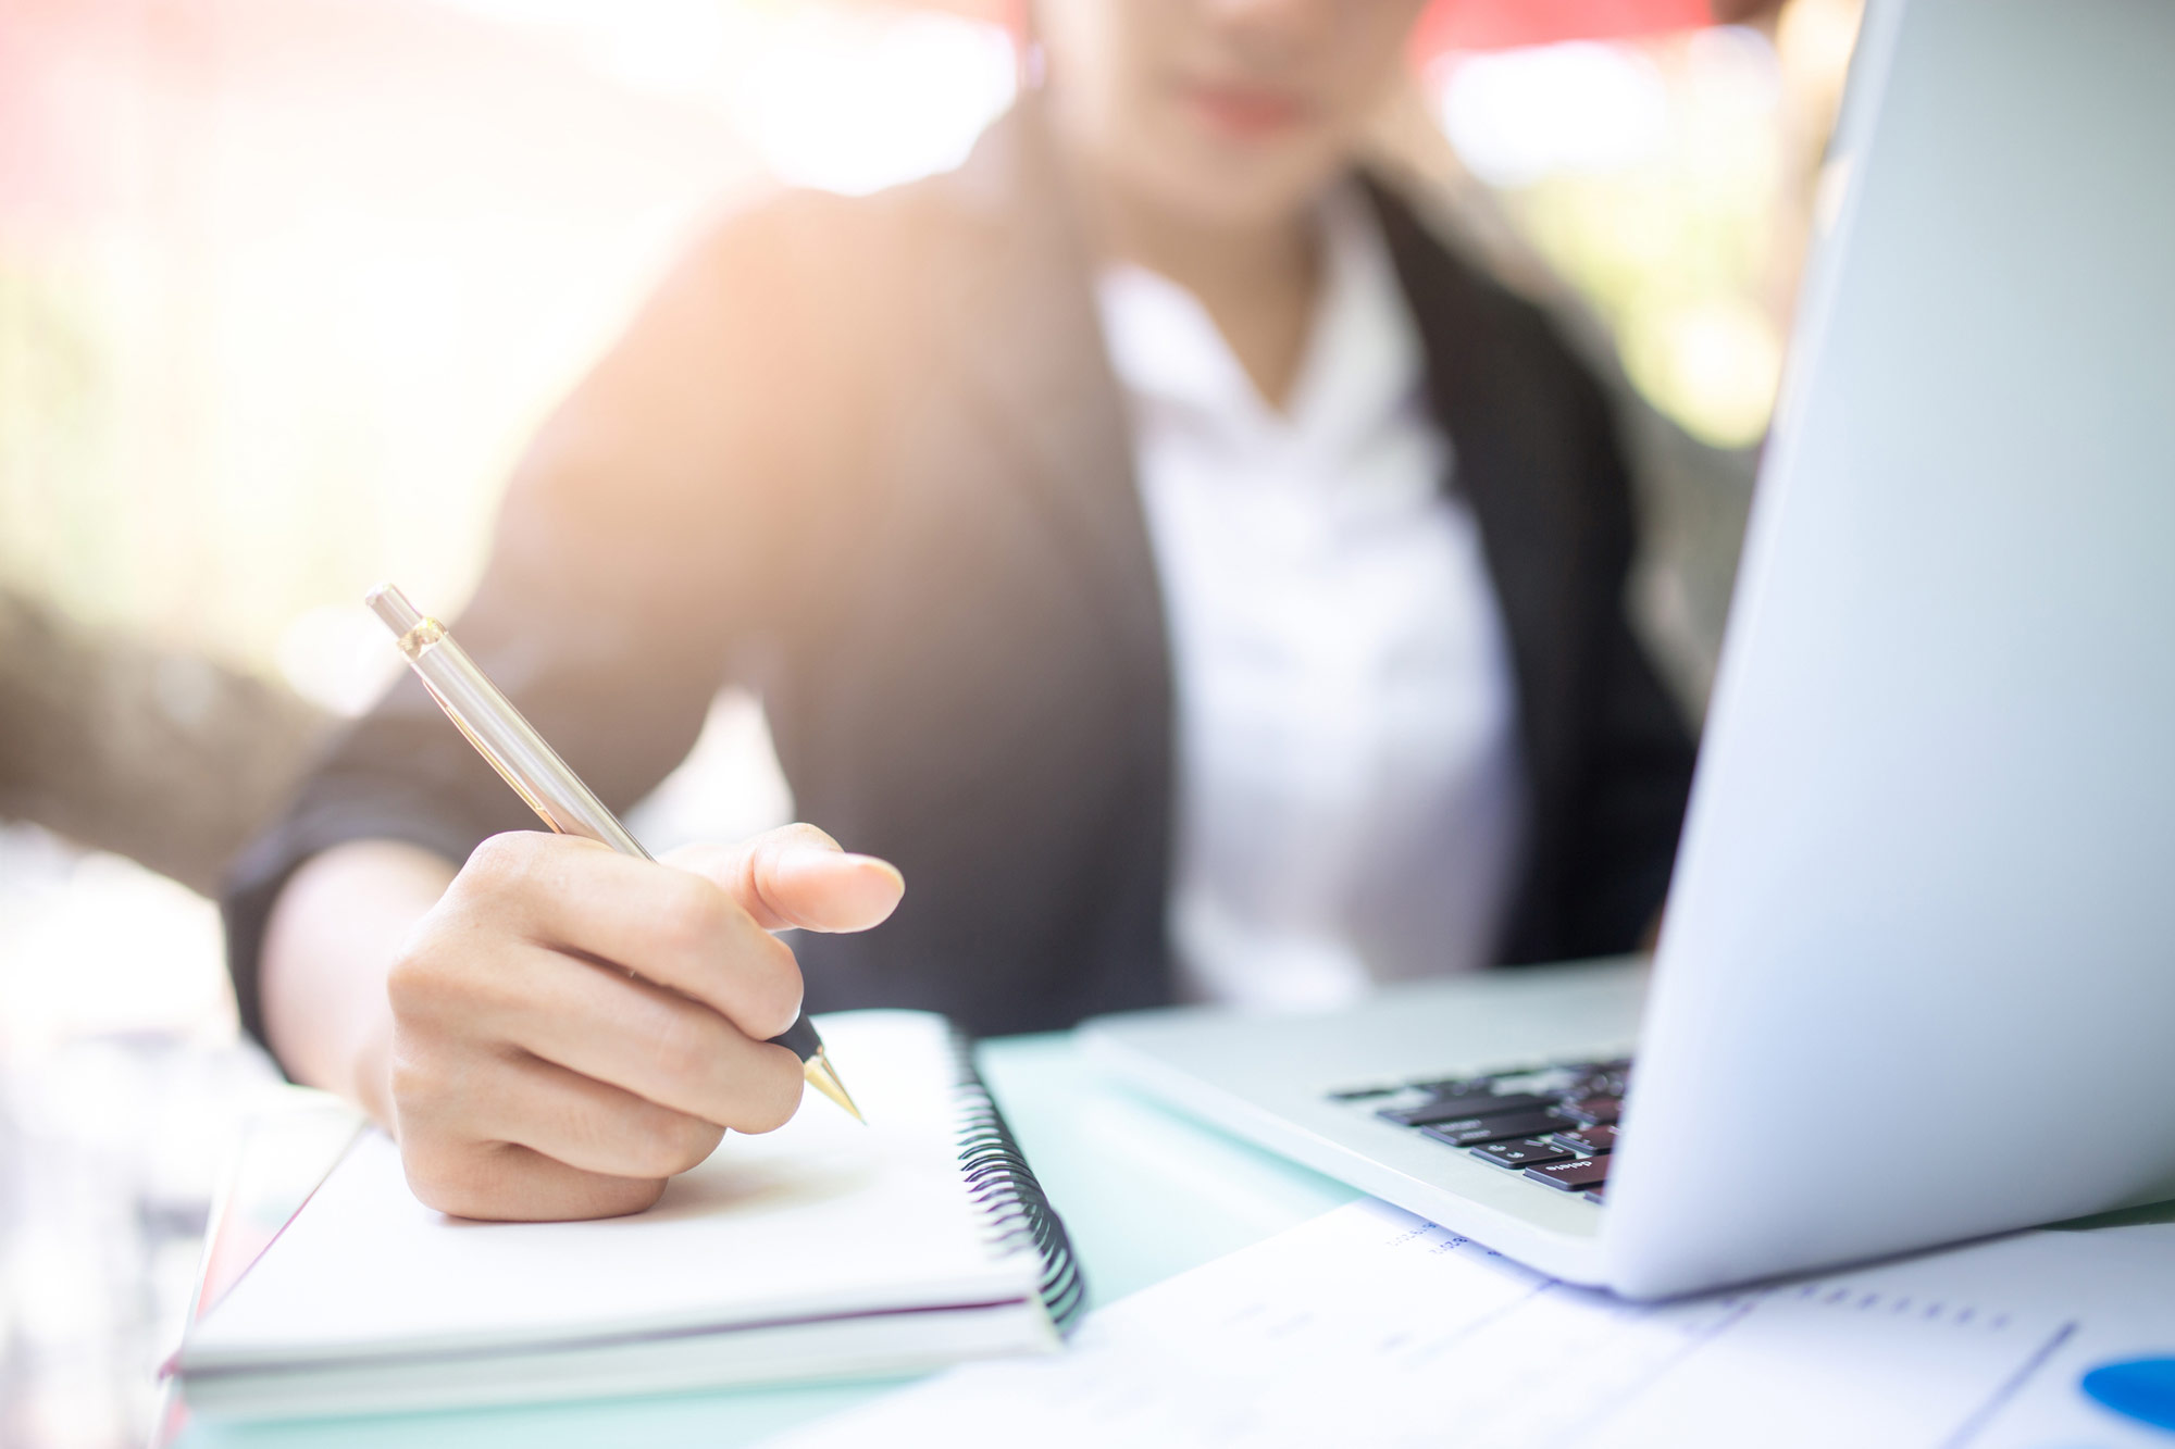
[[[633,970],[770,1040],[800,1014],[800,966],[713,881],[563,835],[494,835],[461,877],[468,929]]]

